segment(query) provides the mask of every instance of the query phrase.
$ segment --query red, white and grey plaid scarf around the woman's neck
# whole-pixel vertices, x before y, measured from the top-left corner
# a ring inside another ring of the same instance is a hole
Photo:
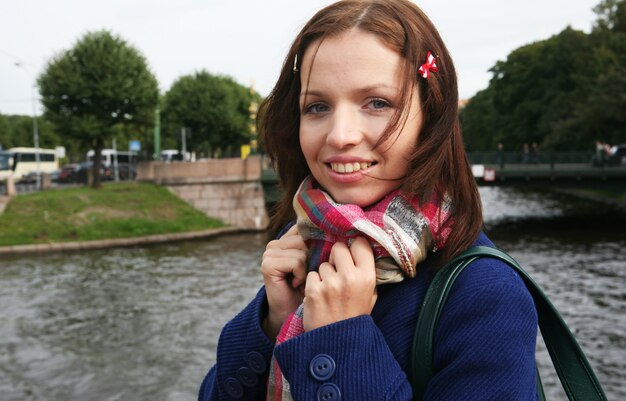
[[[387,194],[365,209],[338,204],[307,177],[296,192],[293,207],[298,233],[309,248],[307,264],[317,271],[328,261],[338,241],[350,245],[359,236],[369,240],[376,264],[377,284],[397,283],[415,277],[415,267],[430,250],[442,248],[450,233],[450,199],[433,197],[420,206],[417,197],[400,190]],[[303,305],[293,312],[278,333],[276,345],[304,332]],[[293,400],[289,382],[272,358],[267,386],[267,401]]]

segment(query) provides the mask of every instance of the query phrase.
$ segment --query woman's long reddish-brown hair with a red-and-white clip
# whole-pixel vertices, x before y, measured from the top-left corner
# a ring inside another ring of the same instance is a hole
[[[334,3],[309,20],[294,40],[283,63],[276,86],[263,101],[257,121],[261,140],[280,178],[282,198],[272,215],[271,235],[295,219],[292,199],[302,180],[310,174],[300,148],[299,125],[301,77],[294,74],[294,60],[303,59],[308,47],[350,29],[374,34],[404,60],[402,104],[408,104],[418,87],[422,127],[409,172],[402,189],[422,202],[447,193],[453,204],[447,244],[441,252],[446,261],[469,247],[482,228],[482,209],[476,181],[463,148],[458,119],[456,71],[443,40],[428,17],[408,0],[344,0]],[[427,52],[437,57],[438,72],[423,79],[417,74]],[[299,66],[297,66],[299,67]],[[400,108],[382,140],[403,123]]]

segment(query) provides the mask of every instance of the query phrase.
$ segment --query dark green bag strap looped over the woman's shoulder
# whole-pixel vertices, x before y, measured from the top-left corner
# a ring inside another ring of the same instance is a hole
[[[434,375],[433,337],[439,315],[454,281],[463,269],[479,257],[491,257],[507,263],[526,284],[537,308],[539,328],[546,348],[567,398],[570,401],[607,401],[600,382],[576,342],[576,338],[541,288],[511,256],[486,246],[470,248],[448,262],[435,274],[428,287],[415,327],[411,350],[410,380],[413,386],[413,399],[423,398],[428,381]],[[543,388],[538,374],[537,391],[542,397]]]

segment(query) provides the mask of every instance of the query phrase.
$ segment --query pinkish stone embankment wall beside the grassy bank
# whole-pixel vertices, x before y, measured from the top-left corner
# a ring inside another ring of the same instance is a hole
[[[262,230],[269,222],[259,156],[141,162],[137,180],[162,185],[207,216],[234,227]]]

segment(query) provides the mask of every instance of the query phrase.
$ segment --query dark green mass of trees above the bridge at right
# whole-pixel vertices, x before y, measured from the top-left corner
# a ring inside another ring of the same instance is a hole
[[[586,150],[596,140],[626,142],[626,41],[614,21],[624,4],[603,1],[596,11],[604,17],[591,34],[568,27],[496,63],[489,87],[461,111],[468,147],[494,150],[503,143],[510,150],[536,142]]]

